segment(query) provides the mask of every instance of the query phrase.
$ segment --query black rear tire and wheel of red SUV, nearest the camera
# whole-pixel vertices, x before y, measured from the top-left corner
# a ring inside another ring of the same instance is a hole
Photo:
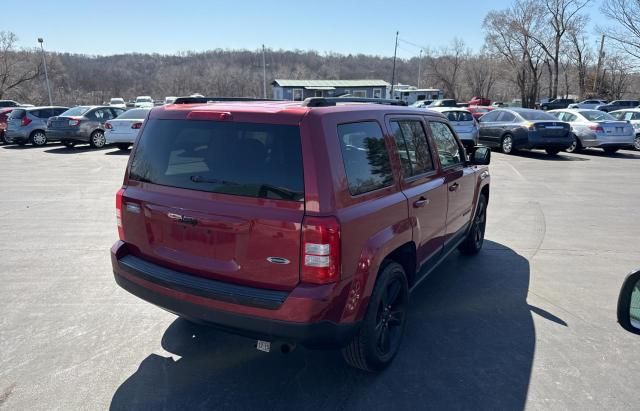
[[[409,287],[404,269],[396,262],[389,262],[378,274],[358,333],[342,349],[347,364],[364,371],[386,368],[402,342],[408,304]]]

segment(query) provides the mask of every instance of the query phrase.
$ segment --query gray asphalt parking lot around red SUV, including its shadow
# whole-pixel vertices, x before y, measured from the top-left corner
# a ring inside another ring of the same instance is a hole
[[[412,295],[381,374],[265,354],[116,286],[114,148],[0,146],[0,408],[637,409],[640,152],[494,154],[487,242]]]

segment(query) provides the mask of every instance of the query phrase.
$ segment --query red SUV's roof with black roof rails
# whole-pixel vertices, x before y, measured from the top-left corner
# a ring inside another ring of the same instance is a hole
[[[221,101],[196,104],[171,104],[168,106],[158,106],[151,110],[149,118],[163,119],[184,119],[189,113],[197,112],[229,112],[232,115],[238,114],[241,117],[246,115],[256,115],[260,117],[273,117],[278,115],[287,123],[298,123],[309,113],[314,115],[326,115],[332,113],[362,113],[362,117],[366,117],[366,113],[389,113],[389,114],[407,114],[422,115],[425,114],[445,118],[444,114],[434,110],[426,111],[417,107],[410,106],[393,106],[386,104],[373,103],[354,103],[344,102],[334,106],[326,107],[307,107],[301,101]],[[452,107],[455,108],[455,107]]]

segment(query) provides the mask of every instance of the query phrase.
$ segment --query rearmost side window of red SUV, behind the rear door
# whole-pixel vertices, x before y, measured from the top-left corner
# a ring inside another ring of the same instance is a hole
[[[351,195],[392,184],[389,153],[378,123],[341,124],[338,126],[338,138]]]

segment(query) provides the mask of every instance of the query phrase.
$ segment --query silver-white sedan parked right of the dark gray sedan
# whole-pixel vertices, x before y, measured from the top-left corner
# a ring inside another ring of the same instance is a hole
[[[573,145],[567,148],[568,152],[598,147],[614,154],[621,148],[631,148],[636,138],[631,124],[600,110],[566,109],[549,113],[571,125]]]

